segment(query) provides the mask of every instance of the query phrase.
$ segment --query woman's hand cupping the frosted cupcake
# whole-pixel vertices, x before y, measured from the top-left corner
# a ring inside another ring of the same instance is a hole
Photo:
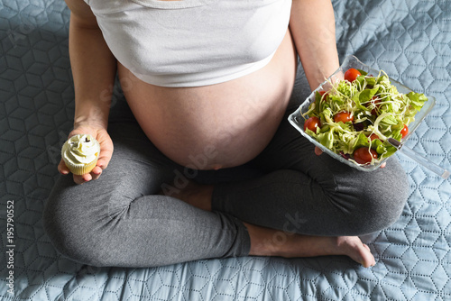
[[[100,154],[98,156],[96,167],[92,169],[90,173],[87,173],[85,175],[73,175],[75,183],[83,184],[92,179],[97,179],[98,177],[100,177],[102,171],[106,169],[109,161],[111,160],[114,148],[113,141],[111,140],[110,135],[108,134],[108,132],[106,132],[106,129],[104,127],[80,125],[69,133],[68,138],[77,134],[90,134],[92,137],[96,138],[96,140],[100,144]],[[60,160],[60,164],[58,165],[58,171],[60,171],[60,174],[62,175],[68,175],[70,173],[68,167],[62,159]]]

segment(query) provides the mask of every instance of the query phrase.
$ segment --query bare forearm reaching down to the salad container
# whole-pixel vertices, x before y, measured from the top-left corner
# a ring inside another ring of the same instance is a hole
[[[293,0],[290,32],[308,84],[315,89],[339,67],[330,0]]]

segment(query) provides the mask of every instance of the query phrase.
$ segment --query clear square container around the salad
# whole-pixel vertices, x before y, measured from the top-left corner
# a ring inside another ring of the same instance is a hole
[[[348,56],[343,61],[340,68],[338,68],[334,74],[332,74],[327,80],[325,80],[319,87],[317,87],[309,96],[308,98],[302,103],[302,105],[299,105],[299,108],[290,114],[288,120],[300,133],[302,136],[306,137],[308,141],[312,142],[318,148],[323,150],[323,152],[327,153],[327,155],[335,158],[336,160],[339,160],[340,162],[343,162],[354,169],[359,169],[363,171],[371,171],[374,169],[379,169],[385,160],[388,158],[385,158],[381,161],[379,161],[377,164],[374,165],[357,165],[352,160],[346,160],[341,155],[336,154],[334,151],[327,149],[324,145],[316,141],[313,137],[309,136],[307,132],[304,132],[304,122],[307,120],[308,115],[305,117],[302,117],[302,114],[305,114],[308,111],[308,105],[310,105],[312,102],[315,102],[315,94],[317,91],[326,90],[330,87],[330,82],[336,82],[343,78],[343,74],[348,68],[356,68],[361,69],[367,72],[369,75],[377,76],[379,74],[379,70],[370,68],[369,66],[365,65],[363,62],[361,62],[359,59],[355,58],[354,56]],[[391,85],[395,86],[398,91],[402,94],[408,94],[410,92],[413,92],[409,87],[406,87],[400,82],[390,78]],[[415,130],[419,127],[419,124],[423,121],[423,119],[429,114],[430,110],[432,110],[432,107],[436,104],[436,99],[432,96],[427,96],[428,101],[423,105],[421,110],[415,115],[415,121],[409,124],[409,133],[400,141],[400,145],[402,145],[405,141],[408,141],[411,134],[415,132]],[[390,158],[390,157],[389,157]]]

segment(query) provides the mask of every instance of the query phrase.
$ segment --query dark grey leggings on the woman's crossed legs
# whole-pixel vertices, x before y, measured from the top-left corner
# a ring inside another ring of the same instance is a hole
[[[287,116],[308,95],[299,76]],[[183,168],[157,150],[133,118],[111,118],[115,152],[96,181],[61,176],[44,210],[55,248],[72,260],[115,267],[152,267],[246,256],[254,223],[309,235],[360,235],[394,223],[408,196],[396,158],[362,172],[323,154],[282,121],[268,147],[234,169]],[[287,117],[285,116],[285,117]],[[199,154],[193,163],[200,165]],[[196,164],[194,164],[196,165]],[[156,195],[194,179],[215,183],[213,212]]]

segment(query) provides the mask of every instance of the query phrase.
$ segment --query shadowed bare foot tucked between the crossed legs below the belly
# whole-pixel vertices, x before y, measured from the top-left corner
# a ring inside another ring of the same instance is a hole
[[[194,181],[189,181],[185,187],[172,190],[170,196],[176,197],[189,205],[211,211],[212,193],[213,185],[202,185]],[[164,195],[164,193],[161,192],[161,195]]]

